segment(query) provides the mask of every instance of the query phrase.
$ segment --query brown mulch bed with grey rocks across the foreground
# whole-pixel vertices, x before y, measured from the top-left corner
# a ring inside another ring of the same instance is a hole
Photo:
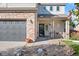
[[[17,56],[14,54],[18,47],[8,49],[3,56]],[[38,49],[43,49],[41,55],[38,54]],[[19,47],[21,50],[19,56],[72,56],[74,51],[67,45],[40,45],[40,46],[31,46],[31,47]],[[23,52],[22,52],[23,50]]]

